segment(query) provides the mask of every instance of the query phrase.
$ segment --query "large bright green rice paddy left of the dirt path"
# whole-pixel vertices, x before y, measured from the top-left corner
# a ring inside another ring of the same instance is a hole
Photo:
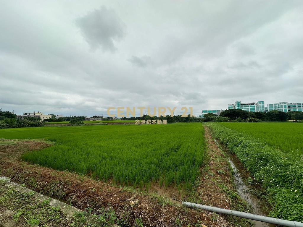
[[[92,174],[120,184],[159,182],[190,188],[203,161],[201,123],[94,125],[1,129],[4,139],[55,141],[23,159],[58,170]]]

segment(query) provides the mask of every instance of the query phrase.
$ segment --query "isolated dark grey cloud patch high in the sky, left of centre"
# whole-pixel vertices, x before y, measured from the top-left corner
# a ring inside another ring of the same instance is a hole
[[[92,49],[115,50],[115,41],[125,36],[126,25],[112,9],[102,6],[76,20],[82,35]]]

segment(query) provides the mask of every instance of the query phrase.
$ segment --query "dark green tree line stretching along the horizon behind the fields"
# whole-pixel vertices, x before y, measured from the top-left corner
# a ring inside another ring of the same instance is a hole
[[[44,119],[41,121],[40,118],[36,117],[24,117],[24,119],[17,119],[15,113],[9,111],[2,111],[0,108],[0,128],[19,128],[19,127],[38,127],[43,126],[44,122],[55,122],[55,121],[77,121],[80,122],[85,120],[84,116],[70,116],[70,117],[59,117],[56,118],[55,114],[52,118]],[[112,117],[102,117],[102,120],[112,120]],[[224,110],[219,116],[213,113],[207,113],[204,118],[191,117],[189,114],[187,117],[181,117],[181,115],[175,115],[171,117],[166,116],[155,116],[151,117],[144,114],[142,117],[122,117],[121,120],[167,120],[167,123],[175,122],[201,122],[201,121],[226,121],[226,122],[261,122],[261,121],[286,121],[286,120],[303,120],[303,112],[300,111],[289,111],[287,113],[278,110],[270,112],[248,112],[241,109],[230,109]]]

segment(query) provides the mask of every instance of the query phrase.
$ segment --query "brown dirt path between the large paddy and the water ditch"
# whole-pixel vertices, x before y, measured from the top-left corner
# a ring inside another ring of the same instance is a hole
[[[201,203],[224,209],[250,212],[251,207],[238,196],[234,176],[228,162],[228,156],[215,143],[208,127],[204,126],[204,137],[207,146],[208,165],[201,169],[196,197]],[[245,219],[227,217],[238,226],[250,226]]]

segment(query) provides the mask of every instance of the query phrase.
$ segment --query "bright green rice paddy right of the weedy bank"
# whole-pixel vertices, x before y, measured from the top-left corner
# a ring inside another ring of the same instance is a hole
[[[303,124],[293,122],[231,123],[221,125],[254,137],[261,142],[277,146],[285,153],[303,155]]]

